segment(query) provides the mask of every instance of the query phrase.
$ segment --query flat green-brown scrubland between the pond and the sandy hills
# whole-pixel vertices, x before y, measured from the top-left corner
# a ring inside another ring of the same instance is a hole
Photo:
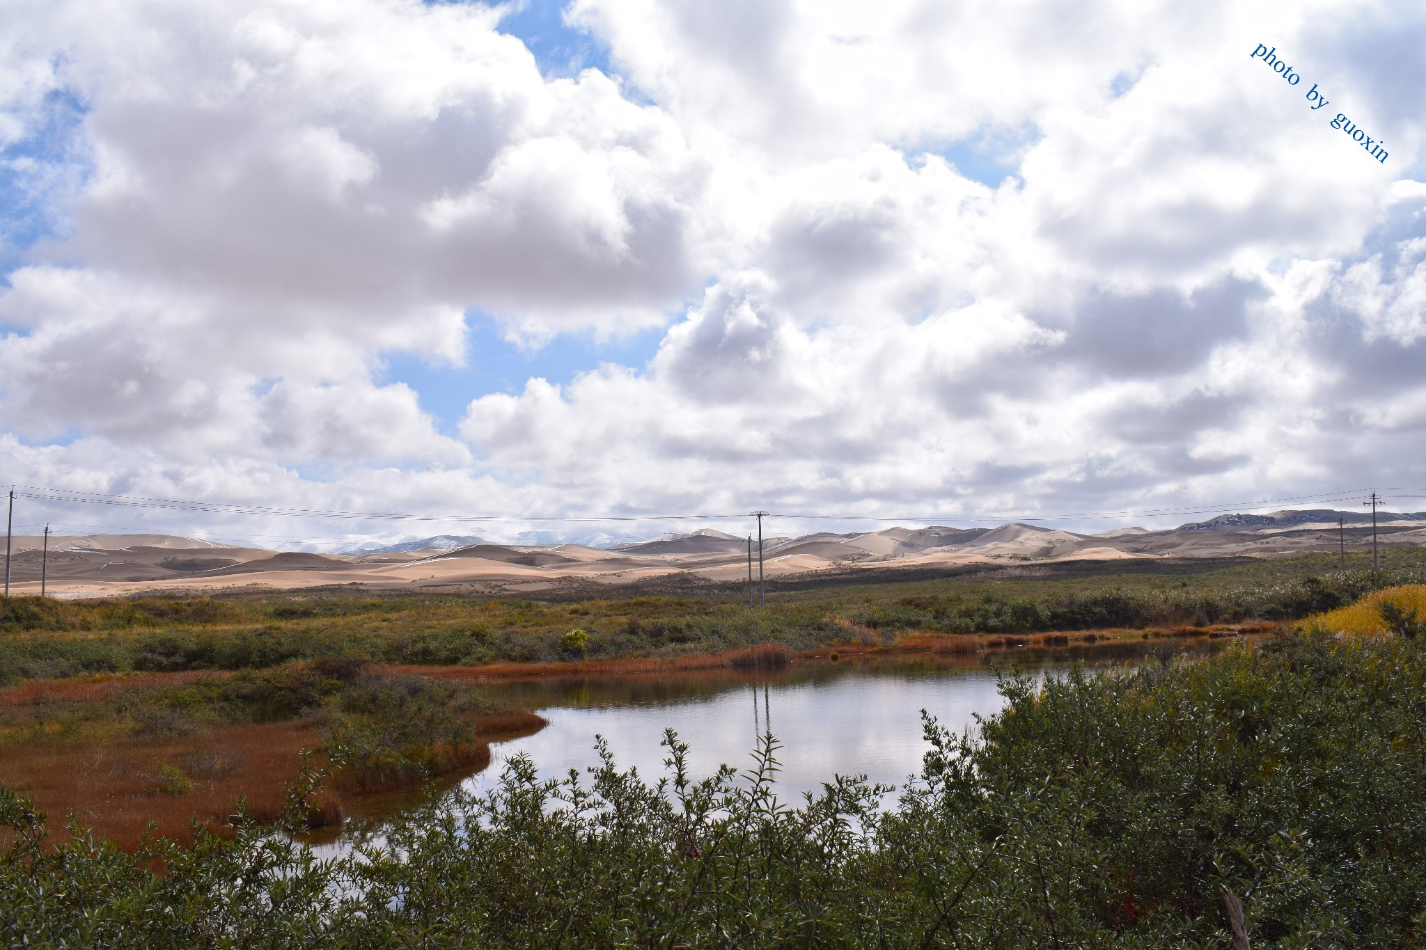
[[[683,595],[637,585],[548,600],[371,595],[349,590],[222,598],[0,601],[0,685],[130,671],[264,669],[292,661],[404,665],[676,658],[761,644],[884,644],[906,631],[1025,634],[1291,621],[1426,580],[1426,553],[1335,558],[954,568],[783,578],[767,610],[739,585]],[[911,575],[915,575],[913,573]],[[880,578],[880,580],[878,580]]]

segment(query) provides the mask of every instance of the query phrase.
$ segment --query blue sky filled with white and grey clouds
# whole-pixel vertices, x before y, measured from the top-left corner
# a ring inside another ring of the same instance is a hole
[[[0,484],[496,533],[1423,507],[1419,3],[3,17]]]

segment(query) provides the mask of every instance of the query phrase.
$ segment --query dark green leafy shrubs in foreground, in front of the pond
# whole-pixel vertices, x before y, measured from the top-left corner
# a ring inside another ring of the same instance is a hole
[[[752,781],[666,785],[607,758],[398,820],[331,863],[250,829],[123,855],[30,842],[0,798],[6,937],[31,946],[1419,946],[1426,927],[1422,640],[1261,651],[1002,684],[980,739],[928,724],[894,805],[836,781],[789,808]],[[830,779],[831,776],[829,776]],[[165,876],[148,870],[154,860]]]

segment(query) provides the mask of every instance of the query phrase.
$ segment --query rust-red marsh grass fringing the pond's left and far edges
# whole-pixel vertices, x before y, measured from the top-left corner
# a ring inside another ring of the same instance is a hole
[[[650,658],[622,657],[609,659],[456,665],[379,664],[378,669],[443,681],[471,684],[535,684],[539,681],[588,678],[637,678],[702,675],[713,679],[780,677],[794,667],[853,667],[881,658],[924,657],[938,665],[984,665],[992,658],[1064,654],[1074,659],[1104,659],[1107,654],[1129,647],[1149,647],[1154,641],[1222,640],[1261,637],[1286,624],[1219,624],[1211,627],[1175,627],[1151,630],[1052,631],[1042,634],[927,634],[908,631],[893,642],[847,642],[793,651],[777,644],[742,649]],[[1128,655],[1128,654],[1127,654]],[[1109,657],[1112,658],[1112,657]],[[100,674],[68,679],[27,679],[0,689],[0,706],[47,705],[51,702],[104,701],[124,692],[143,692],[185,684],[204,677],[227,678],[235,671],[174,671]],[[518,704],[523,705],[523,704]],[[459,782],[479,772],[491,761],[491,746],[539,732],[546,725],[532,708],[509,708],[475,716],[475,746],[459,763],[434,775],[438,785]],[[217,833],[225,833],[231,802],[245,796],[255,816],[272,818],[281,812],[284,783],[302,766],[304,749],[321,742],[309,721],[234,724],[205,728],[194,735],[125,739],[53,735],[44,742],[14,741],[0,743],[0,773],[10,788],[36,796],[36,805],[53,813],[74,813],[81,825],[104,837],[131,847],[150,820],[161,833],[187,840],[188,822],[198,819]],[[190,763],[191,792],[163,795],[154,789],[154,772],[161,762]],[[222,768],[232,765],[234,773]],[[193,765],[208,768],[194,771]],[[374,788],[342,788],[331,782],[318,795],[314,808],[321,813],[304,835],[319,843],[339,833],[345,819],[369,819],[394,806],[415,800],[422,782],[396,781]],[[327,828],[322,828],[327,825]],[[53,829],[51,829],[53,835]]]

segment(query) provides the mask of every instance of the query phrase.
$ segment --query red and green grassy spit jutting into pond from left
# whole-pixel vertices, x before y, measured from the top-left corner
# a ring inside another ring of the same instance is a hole
[[[335,825],[374,792],[483,768],[489,741],[540,725],[481,685],[364,661],[29,681],[0,692],[0,782],[137,847],[150,822],[228,833],[240,799],[275,819],[304,765],[325,786],[307,822]]]

